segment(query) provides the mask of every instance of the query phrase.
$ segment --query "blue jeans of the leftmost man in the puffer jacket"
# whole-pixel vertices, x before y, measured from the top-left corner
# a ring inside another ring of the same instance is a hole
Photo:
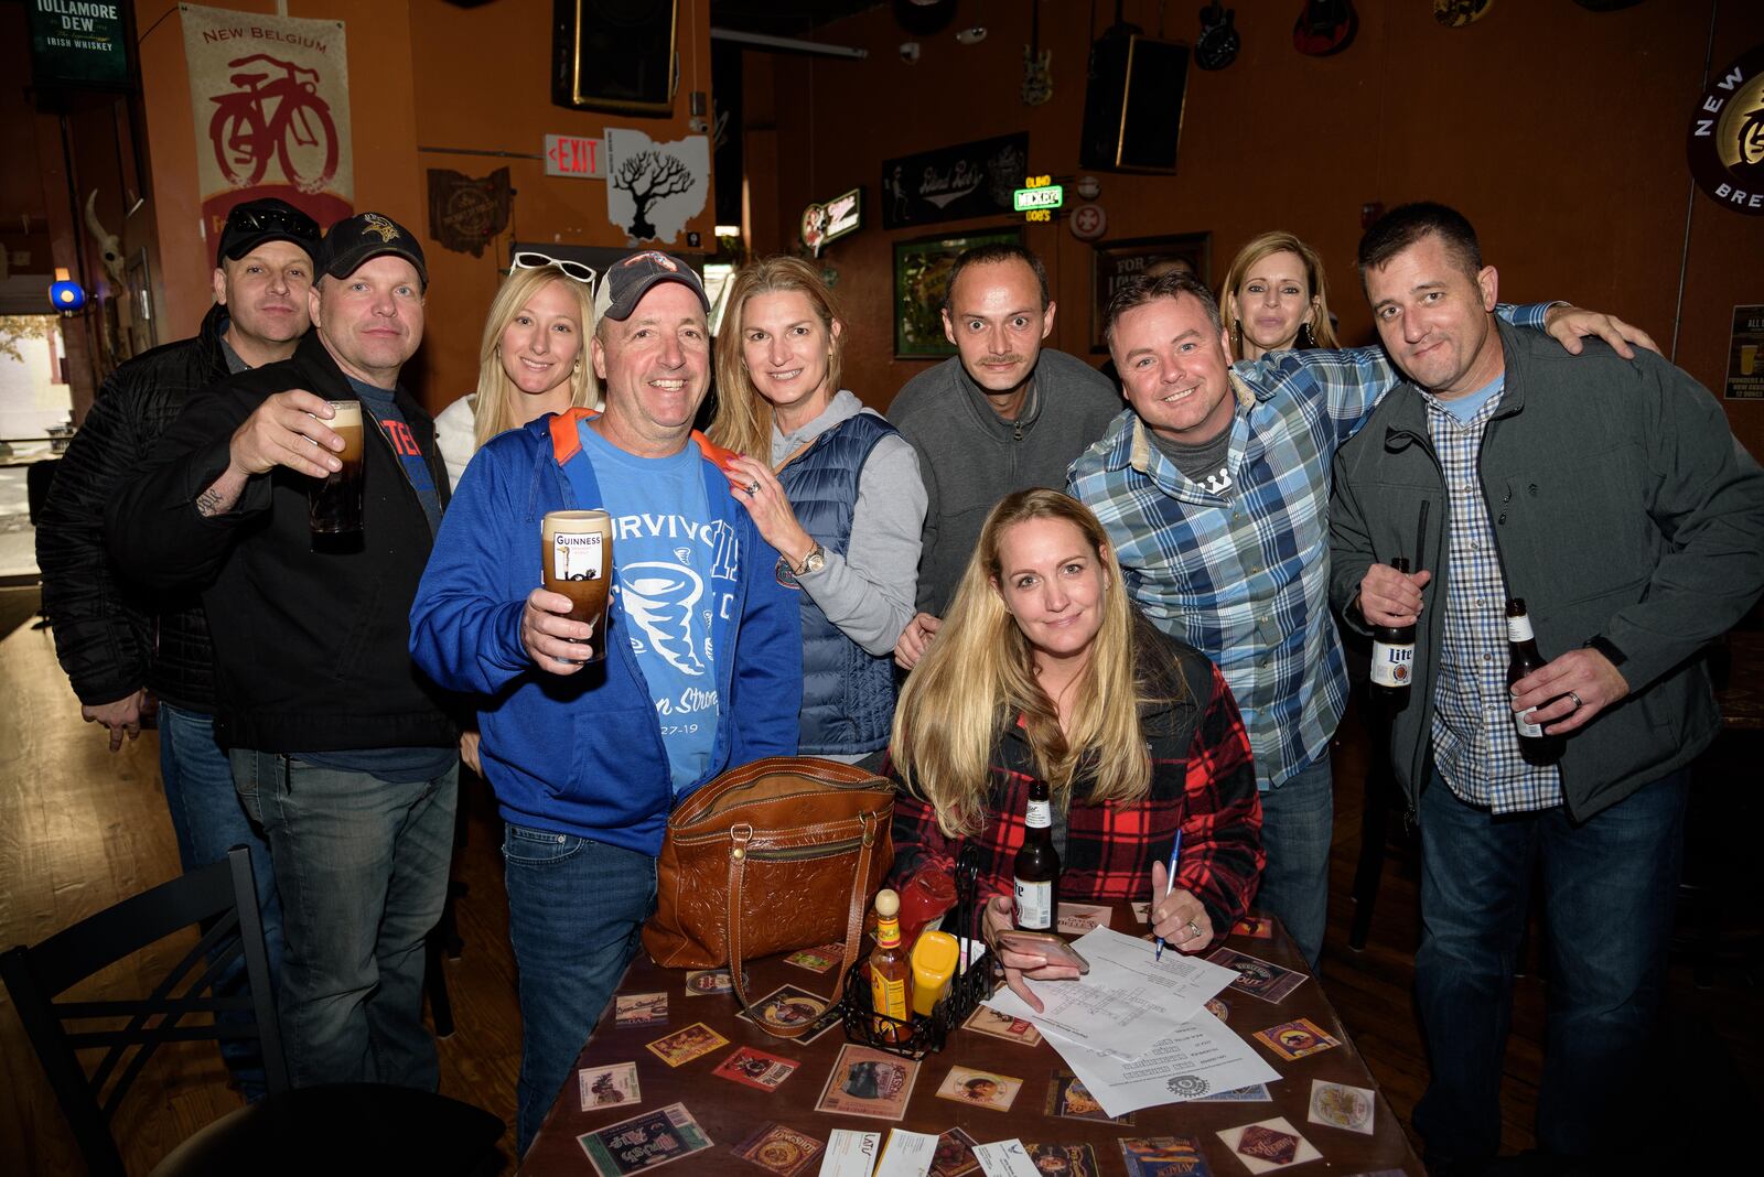
[[[166,809],[178,835],[178,862],[183,870],[220,862],[235,846],[250,848],[250,872],[258,883],[258,913],[263,916],[263,944],[270,955],[270,981],[282,974],[282,904],[275,895],[275,867],[270,844],[252,828],[250,816],[233,788],[233,768],[215,744],[215,719],[169,703],[159,705],[159,775],[166,786]],[[222,997],[245,996],[245,962],[235,960],[215,981]],[[250,1015],[222,1015],[242,1017]],[[222,1038],[220,1057],[247,1099],[265,1094],[263,1052],[252,1038]]]

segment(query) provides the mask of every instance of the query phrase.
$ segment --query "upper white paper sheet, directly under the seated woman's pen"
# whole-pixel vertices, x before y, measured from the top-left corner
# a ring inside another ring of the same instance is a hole
[[[1131,1062],[1152,1043],[1175,1034],[1208,997],[1237,980],[1224,966],[1175,950],[1154,960],[1150,941],[1101,927],[1080,936],[1073,948],[1090,962],[1085,976],[1076,981],[1025,978],[1041,999],[1041,1013],[1009,988],[1000,988],[984,1004]]]

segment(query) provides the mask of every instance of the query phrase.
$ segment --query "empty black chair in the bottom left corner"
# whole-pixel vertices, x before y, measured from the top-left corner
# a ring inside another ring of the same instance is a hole
[[[201,936],[143,997],[58,1001],[81,980],[198,925]],[[213,983],[243,957],[250,994],[217,997]],[[152,1054],[168,1041],[256,1038],[268,1096],[208,1124],[153,1170],[192,1173],[349,1172],[492,1173],[503,1122],[427,1091],[339,1084],[295,1091],[288,1080],[258,916],[250,851],[192,870],[0,955],[0,978],[49,1077],[93,1177],[122,1177],[111,1117]],[[249,1018],[220,1020],[236,1011]],[[191,1022],[192,1015],[198,1020]],[[85,1027],[102,1022],[109,1025]],[[122,1025],[115,1025],[122,1022]],[[88,1071],[79,1054],[102,1050]]]

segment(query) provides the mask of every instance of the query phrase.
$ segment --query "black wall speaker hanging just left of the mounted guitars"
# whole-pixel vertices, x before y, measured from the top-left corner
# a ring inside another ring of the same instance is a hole
[[[1132,25],[1104,32],[1090,48],[1080,166],[1177,171],[1187,85],[1189,46],[1152,41]]]

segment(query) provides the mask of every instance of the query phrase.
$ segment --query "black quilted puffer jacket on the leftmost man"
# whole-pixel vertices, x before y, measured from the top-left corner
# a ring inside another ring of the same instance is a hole
[[[226,308],[213,307],[194,338],[166,344],[116,368],[56,467],[37,518],[42,610],[55,652],[81,703],[134,691],[212,712],[213,647],[194,592],[148,596],[125,585],[104,550],[104,506],[199,388],[224,379]]]

